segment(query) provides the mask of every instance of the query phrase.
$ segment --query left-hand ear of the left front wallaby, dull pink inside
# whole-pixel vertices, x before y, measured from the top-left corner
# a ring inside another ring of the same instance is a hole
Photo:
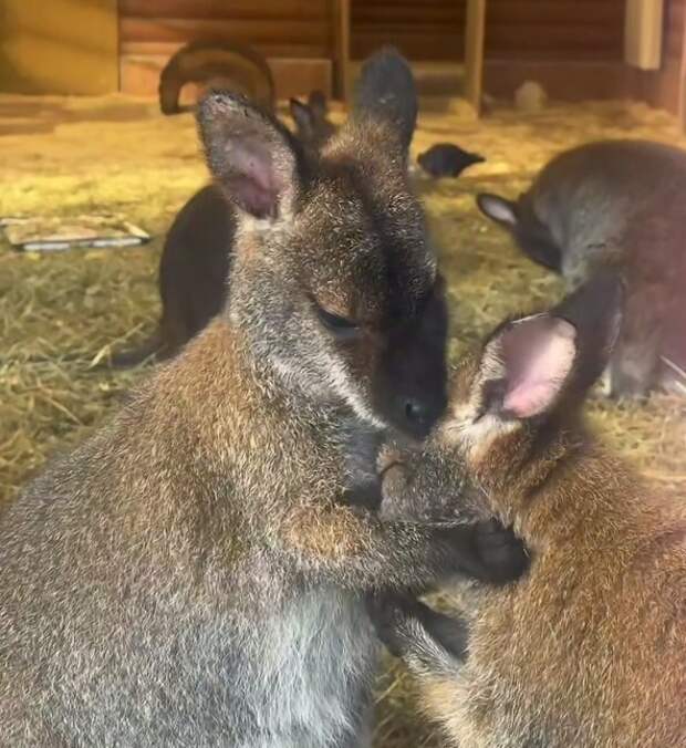
[[[238,208],[258,218],[291,209],[298,154],[280,122],[245,96],[217,91],[202,98],[197,117],[209,169]]]

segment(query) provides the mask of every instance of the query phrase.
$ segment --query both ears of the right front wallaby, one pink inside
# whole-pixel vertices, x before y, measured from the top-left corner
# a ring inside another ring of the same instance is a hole
[[[481,361],[485,412],[531,418],[563,396],[583,397],[607,364],[622,299],[621,279],[602,273],[551,312],[497,330]]]

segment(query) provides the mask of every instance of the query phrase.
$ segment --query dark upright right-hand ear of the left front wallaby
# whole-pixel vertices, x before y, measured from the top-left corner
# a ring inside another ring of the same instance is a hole
[[[417,124],[417,89],[407,60],[393,46],[384,46],[362,65],[355,86],[354,113],[388,120],[409,148]]]

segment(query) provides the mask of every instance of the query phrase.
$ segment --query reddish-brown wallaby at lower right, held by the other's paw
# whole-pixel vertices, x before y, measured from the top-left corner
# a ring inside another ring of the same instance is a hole
[[[686,522],[583,427],[619,325],[603,274],[506,322],[453,384],[425,453],[384,456],[387,517],[513,523],[529,573],[460,585],[462,620],[374,601],[459,746],[686,745]]]

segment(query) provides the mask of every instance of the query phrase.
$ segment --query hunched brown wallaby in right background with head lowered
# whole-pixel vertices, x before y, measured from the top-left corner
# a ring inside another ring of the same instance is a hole
[[[610,361],[611,393],[655,385],[686,392],[686,153],[646,141],[604,141],[552,159],[516,202],[479,195],[534,261],[575,288],[601,268],[626,280]]]

